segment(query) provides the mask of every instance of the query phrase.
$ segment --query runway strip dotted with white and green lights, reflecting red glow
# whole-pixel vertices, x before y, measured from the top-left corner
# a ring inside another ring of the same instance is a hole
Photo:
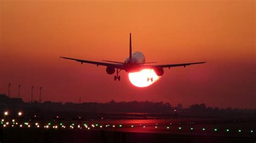
[[[44,128],[45,130],[105,130],[118,132],[161,134],[204,134],[254,136],[255,119],[244,117],[223,118],[168,118],[168,119],[90,119],[68,120],[15,120],[1,122],[3,128]]]

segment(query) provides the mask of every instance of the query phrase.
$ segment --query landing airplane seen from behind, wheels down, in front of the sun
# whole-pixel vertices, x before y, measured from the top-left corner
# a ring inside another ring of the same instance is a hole
[[[125,59],[124,62],[117,62],[117,61],[107,61],[102,60],[105,62],[97,62],[97,61],[87,61],[87,60],[81,60],[81,59],[73,59],[68,57],[60,56],[60,58],[68,59],[68,60],[75,60],[77,62],[83,63],[91,63],[98,66],[105,66],[106,67],[106,73],[107,74],[114,74],[116,72],[116,75],[114,76],[114,81],[118,80],[120,81],[120,76],[118,75],[121,70],[125,70],[126,73],[133,73],[140,71],[142,69],[153,69],[158,76],[163,76],[164,74],[164,68],[171,68],[171,67],[180,67],[183,66],[184,68],[186,66],[200,64],[200,63],[206,63],[204,62],[190,62],[190,63],[178,63],[178,64],[170,64],[170,65],[147,65],[149,63],[156,63],[156,62],[145,62],[145,56],[142,52],[135,52],[132,54],[132,40],[131,40],[131,33],[130,33],[130,54],[129,57]],[[147,77],[147,81],[151,80],[153,81],[153,77]]]

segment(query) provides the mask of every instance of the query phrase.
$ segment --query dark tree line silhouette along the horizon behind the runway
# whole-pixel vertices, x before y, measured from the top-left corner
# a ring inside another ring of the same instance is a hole
[[[85,102],[85,103],[61,103],[45,101],[43,103],[23,103],[20,105],[10,104],[2,106],[2,109],[16,108],[30,112],[79,112],[79,113],[154,113],[171,114],[179,116],[252,116],[256,117],[256,109],[237,108],[213,108],[202,104],[193,104],[183,108],[182,104],[172,106],[164,102],[115,102],[107,103]],[[1,109],[1,105],[0,105]]]

